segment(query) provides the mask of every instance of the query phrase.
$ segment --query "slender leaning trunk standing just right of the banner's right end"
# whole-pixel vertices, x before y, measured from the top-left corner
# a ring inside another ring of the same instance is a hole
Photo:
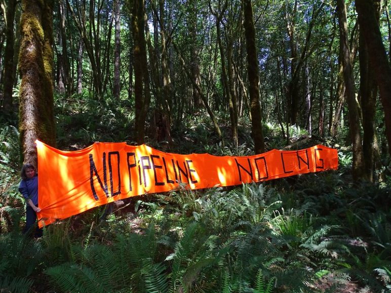
[[[344,0],[337,0],[337,14],[339,22],[340,46],[342,52],[343,77],[346,88],[346,100],[349,109],[349,130],[353,143],[353,178],[363,178],[364,157],[361,145],[360,115],[356,103],[353,67],[351,66],[350,50],[347,36],[346,6]]]

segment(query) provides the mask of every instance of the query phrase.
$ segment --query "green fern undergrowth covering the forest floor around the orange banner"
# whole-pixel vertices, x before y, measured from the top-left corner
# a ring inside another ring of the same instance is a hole
[[[134,117],[127,101],[82,95],[57,97],[56,104],[60,147],[132,142]],[[239,128],[239,147],[233,148],[228,129],[222,129],[223,145],[209,125],[204,114],[185,119],[172,129],[176,148],[170,151],[252,154],[248,127]],[[297,127],[289,131],[292,141],[306,136]],[[337,172],[234,188],[191,191],[183,185],[125,200],[111,206],[112,213],[95,208],[31,239],[21,233],[18,135],[10,126],[0,132],[0,291],[391,290],[389,177],[351,184],[348,151],[339,151]],[[270,123],[265,141],[268,149],[286,145],[280,128]]]

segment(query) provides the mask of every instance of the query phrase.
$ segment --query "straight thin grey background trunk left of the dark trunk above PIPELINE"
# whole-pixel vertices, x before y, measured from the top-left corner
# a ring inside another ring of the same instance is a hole
[[[114,36],[114,87],[113,96],[115,99],[120,98],[120,33],[121,33],[121,16],[120,16],[120,0],[114,0],[114,23],[115,23],[115,36]]]

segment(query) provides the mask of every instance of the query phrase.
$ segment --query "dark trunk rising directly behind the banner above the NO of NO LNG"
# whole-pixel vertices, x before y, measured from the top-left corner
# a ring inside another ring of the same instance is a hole
[[[258,58],[255,46],[255,28],[253,20],[253,8],[251,0],[243,0],[244,28],[246,35],[247,49],[247,69],[250,82],[250,110],[252,116],[251,135],[254,140],[255,153],[260,154],[265,151],[262,130],[262,113],[259,104],[259,73]]]

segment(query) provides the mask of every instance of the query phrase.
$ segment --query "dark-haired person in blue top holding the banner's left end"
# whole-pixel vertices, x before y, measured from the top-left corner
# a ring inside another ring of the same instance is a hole
[[[35,225],[36,213],[41,212],[38,207],[38,174],[32,164],[24,164],[20,172],[22,181],[19,184],[19,192],[26,200],[26,227],[24,232],[30,231],[31,227]],[[35,230],[34,237],[41,237],[42,229]]]

